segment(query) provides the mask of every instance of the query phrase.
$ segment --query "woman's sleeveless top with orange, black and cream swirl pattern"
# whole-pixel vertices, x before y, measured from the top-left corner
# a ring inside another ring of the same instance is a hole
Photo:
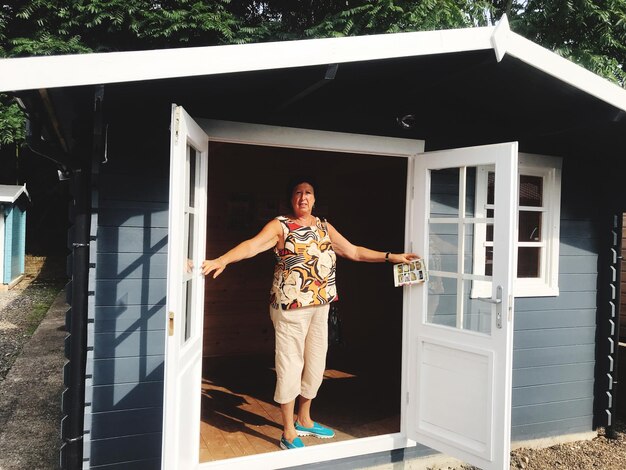
[[[289,310],[337,300],[337,257],[326,224],[318,217],[312,226],[298,225],[287,217],[276,218],[283,227],[285,247],[274,247],[272,307]]]

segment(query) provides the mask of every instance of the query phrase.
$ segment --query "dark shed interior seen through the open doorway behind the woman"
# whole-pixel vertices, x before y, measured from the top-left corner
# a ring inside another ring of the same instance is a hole
[[[212,143],[207,257],[289,212],[286,182],[312,174],[316,215],[349,240],[404,251],[407,161],[401,157]],[[273,253],[228,266],[206,282],[201,460],[277,450],[274,331],[268,300]],[[341,334],[331,344],[315,419],[336,440],[398,432],[402,291],[389,265],[338,261]],[[307,445],[315,444],[310,439]]]

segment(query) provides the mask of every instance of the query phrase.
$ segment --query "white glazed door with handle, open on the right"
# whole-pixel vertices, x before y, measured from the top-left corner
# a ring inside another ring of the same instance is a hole
[[[478,172],[488,174],[483,208],[475,205]],[[517,143],[429,152],[414,162],[411,240],[430,278],[407,288],[406,429],[410,439],[485,470],[509,468],[517,180]],[[484,269],[474,265],[474,243],[486,251]],[[472,298],[474,282],[489,282],[491,297]]]

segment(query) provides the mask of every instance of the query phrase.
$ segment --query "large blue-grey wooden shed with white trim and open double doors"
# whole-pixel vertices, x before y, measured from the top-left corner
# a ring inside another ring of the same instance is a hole
[[[354,468],[611,426],[626,92],[495,27],[4,59],[29,145],[72,180],[65,468]],[[313,163],[312,163],[313,162]],[[190,266],[313,172],[353,242],[318,419],[279,451],[271,257]],[[367,229],[365,229],[367,224]],[[191,263],[190,263],[191,261]],[[366,295],[376,292],[376,295]],[[372,344],[376,348],[372,348]]]

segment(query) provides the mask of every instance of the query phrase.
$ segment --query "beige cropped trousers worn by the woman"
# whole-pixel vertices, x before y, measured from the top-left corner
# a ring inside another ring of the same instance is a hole
[[[298,395],[313,399],[324,379],[329,304],[292,310],[270,307],[276,332],[276,391],[285,404]]]

